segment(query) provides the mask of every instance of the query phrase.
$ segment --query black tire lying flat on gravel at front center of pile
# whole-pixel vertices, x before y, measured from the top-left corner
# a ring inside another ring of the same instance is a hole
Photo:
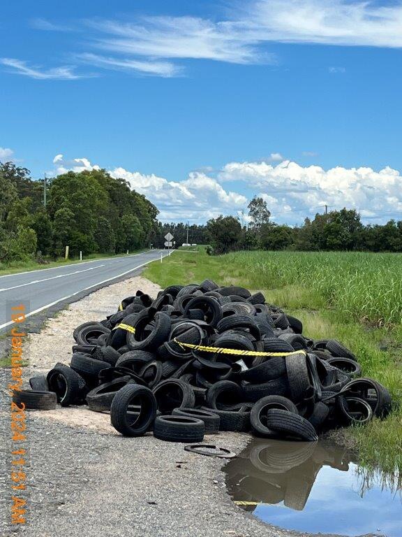
[[[205,424],[188,416],[157,416],[154,436],[168,442],[199,443],[204,439]]]

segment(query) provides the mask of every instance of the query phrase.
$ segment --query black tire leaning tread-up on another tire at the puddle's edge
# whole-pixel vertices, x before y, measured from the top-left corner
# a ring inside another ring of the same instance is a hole
[[[304,417],[288,410],[268,410],[267,427],[278,432],[280,436],[291,436],[307,442],[318,440],[313,425]]]

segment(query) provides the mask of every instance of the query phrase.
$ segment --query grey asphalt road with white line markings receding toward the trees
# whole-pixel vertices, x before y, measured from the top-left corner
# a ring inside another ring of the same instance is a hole
[[[38,271],[0,276],[0,332],[13,322],[10,308],[24,303],[30,317],[77,295],[89,294],[108,282],[135,275],[136,269],[168,255],[166,250],[149,250],[142,254],[96,259]]]

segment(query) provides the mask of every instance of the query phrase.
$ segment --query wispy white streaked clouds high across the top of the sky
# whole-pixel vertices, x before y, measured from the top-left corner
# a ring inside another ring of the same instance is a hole
[[[230,8],[230,5],[232,8]],[[278,64],[269,43],[402,47],[402,3],[381,6],[375,0],[251,0],[227,3],[230,16],[207,20],[195,16],[142,16],[128,20],[85,20],[70,25],[31,21],[45,31],[80,31],[85,51],[80,62],[101,69],[180,76],[179,59],[207,59],[232,64]],[[98,55],[91,50],[103,50]],[[165,61],[163,61],[165,60]],[[170,60],[170,61],[166,61]],[[32,78],[81,78],[72,66],[30,68],[6,59],[15,72]],[[344,73],[329,66],[330,73]]]

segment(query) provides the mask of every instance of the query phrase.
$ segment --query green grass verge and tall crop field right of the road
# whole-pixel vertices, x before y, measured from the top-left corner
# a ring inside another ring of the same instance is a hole
[[[174,252],[144,275],[162,287],[200,282],[244,285],[299,317],[311,338],[336,338],[363,374],[402,398],[402,255],[355,252],[236,252],[209,257]],[[402,471],[402,410],[345,429],[364,464]]]

